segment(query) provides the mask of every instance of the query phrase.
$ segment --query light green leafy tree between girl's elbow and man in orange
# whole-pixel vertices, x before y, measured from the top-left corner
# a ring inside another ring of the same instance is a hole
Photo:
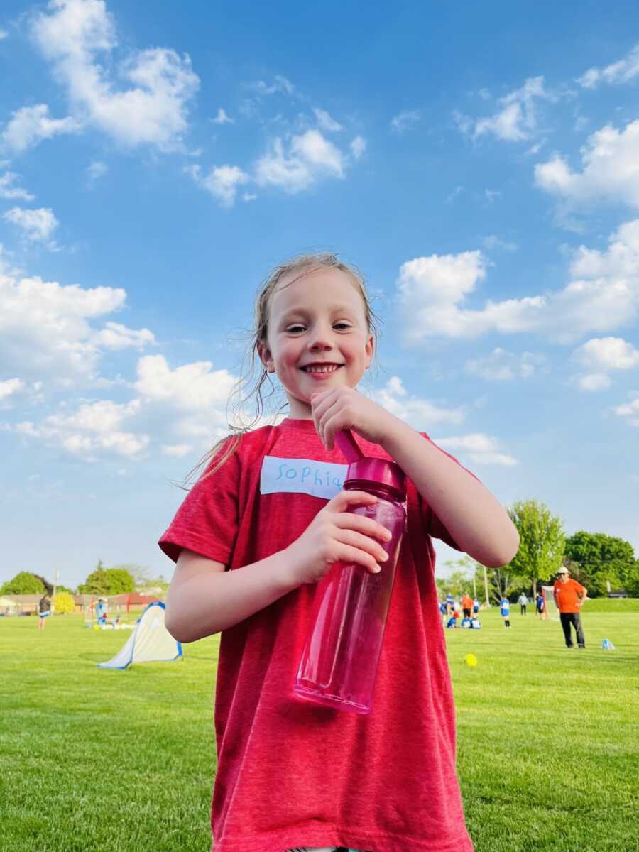
[[[508,514],[519,533],[519,550],[509,563],[509,571],[527,579],[534,596],[537,581],[550,579],[561,567],[566,534],[561,519],[538,500],[518,500]]]

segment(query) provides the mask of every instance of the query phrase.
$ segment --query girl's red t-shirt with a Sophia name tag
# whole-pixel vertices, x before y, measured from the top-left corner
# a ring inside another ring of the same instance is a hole
[[[389,458],[381,446],[358,442],[366,455]],[[160,546],[174,560],[186,548],[230,570],[250,565],[302,535],[341,490],[345,469],[313,421],[256,429],[216,474],[193,486]],[[455,773],[455,715],[429,536],[456,545],[410,481],[407,517],[370,715],[292,693],[315,584],[222,631],[216,852],[473,849]]]

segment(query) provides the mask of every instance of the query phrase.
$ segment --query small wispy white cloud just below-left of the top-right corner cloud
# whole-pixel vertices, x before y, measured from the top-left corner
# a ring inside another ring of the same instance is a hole
[[[538,101],[557,101],[557,96],[544,87],[544,77],[531,77],[521,89],[499,98],[498,112],[487,118],[472,119],[455,112],[463,133],[472,130],[473,138],[492,133],[504,141],[530,139],[538,129]]]

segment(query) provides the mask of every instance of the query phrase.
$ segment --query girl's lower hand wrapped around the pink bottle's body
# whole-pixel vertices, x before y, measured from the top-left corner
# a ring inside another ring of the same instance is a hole
[[[317,583],[337,561],[377,573],[377,563],[389,558],[378,542],[388,544],[392,536],[372,518],[348,511],[351,506],[376,503],[377,497],[363,491],[343,491],[332,498],[285,550],[295,584]]]

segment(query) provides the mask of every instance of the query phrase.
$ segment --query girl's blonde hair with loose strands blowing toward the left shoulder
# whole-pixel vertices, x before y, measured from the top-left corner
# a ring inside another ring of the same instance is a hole
[[[271,299],[273,293],[277,290],[280,282],[288,276],[295,275],[285,286],[293,284],[296,280],[302,277],[302,274],[314,272],[317,269],[338,269],[340,272],[346,273],[353,280],[356,290],[360,293],[364,304],[364,316],[366,319],[366,327],[373,336],[375,346],[373,348],[374,356],[377,357],[377,338],[379,336],[378,324],[379,318],[371,307],[371,301],[366,292],[366,283],[360,270],[348,263],[345,263],[336,255],[328,252],[317,252],[313,254],[304,254],[292,257],[291,260],[281,263],[273,269],[268,277],[264,280],[260,290],[256,296],[255,312],[253,318],[253,327],[250,331],[250,346],[246,348],[242,366],[240,369],[239,380],[233,385],[228,398],[228,408],[233,411],[233,424],[229,423],[231,435],[218,440],[217,443],[205,453],[203,458],[195,465],[195,467],[187,474],[184,486],[194,479],[205,479],[206,477],[216,473],[228,458],[231,458],[237,450],[242,436],[251,429],[256,427],[260,422],[267,409],[266,403],[275,395],[275,385],[262,360],[259,356],[258,348],[261,343],[266,343],[268,340],[268,314],[271,307]],[[259,364],[259,374],[256,375],[256,365]],[[263,389],[268,386],[268,394],[262,395]],[[254,400],[254,407],[251,417],[246,417],[245,406],[249,400]],[[278,415],[284,404],[273,412],[273,418]],[[223,448],[223,452],[222,451]],[[219,458],[216,458],[219,457]],[[215,459],[215,462],[210,465],[210,462]],[[207,467],[210,468],[207,469]],[[204,475],[199,475],[200,471],[205,470]]]

